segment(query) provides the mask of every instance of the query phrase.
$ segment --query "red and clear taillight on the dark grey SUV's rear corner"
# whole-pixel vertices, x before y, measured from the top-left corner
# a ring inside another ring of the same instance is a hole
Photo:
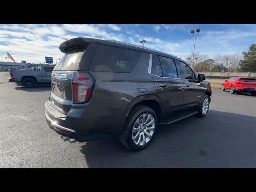
[[[74,71],[72,74],[73,103],[88,102],[94,89],[94,78],[83,71]]]

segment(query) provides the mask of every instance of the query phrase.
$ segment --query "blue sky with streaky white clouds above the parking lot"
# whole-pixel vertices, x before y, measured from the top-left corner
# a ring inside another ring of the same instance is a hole
[[[70,38],[111,39],[141,45],[185,59],[193,50],[191,29],[200,28],[195,52],[233,54],[256,43],[255,24],[0,24],[0,61],[8,52],[16,62],[61,58],[59,45]],[[9,60],[12,62],[11,60]]]

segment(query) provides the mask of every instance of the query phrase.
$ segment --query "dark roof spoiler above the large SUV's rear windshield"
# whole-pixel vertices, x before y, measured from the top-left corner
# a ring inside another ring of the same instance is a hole
[[[60,44],[60,51],[66,54],[82,52],[86,50],[86,47],[90,42],[99,42],[99,39],[94,38],[73,38],[70,40],[64,41]]]

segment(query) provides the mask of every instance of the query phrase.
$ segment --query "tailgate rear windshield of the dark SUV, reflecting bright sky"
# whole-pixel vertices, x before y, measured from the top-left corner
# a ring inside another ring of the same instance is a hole
[[[75,70],[83,54],[84,52],[64,54],[60,62],[54,67],[54,70]]]

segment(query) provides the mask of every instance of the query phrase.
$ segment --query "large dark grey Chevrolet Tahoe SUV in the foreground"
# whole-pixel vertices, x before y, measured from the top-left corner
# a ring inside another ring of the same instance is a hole
[[[119,136],[124,146],[148,146],[159,124],[206,116],[211,87],[183,60],[113,40],[73,38],[51,74],[45,103],[49,127],[66,141]]]

